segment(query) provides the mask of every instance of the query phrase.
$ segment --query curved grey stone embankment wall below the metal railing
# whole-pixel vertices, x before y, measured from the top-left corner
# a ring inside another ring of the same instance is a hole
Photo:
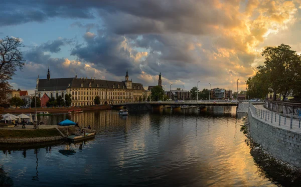
[[[251,137],[275,157],[301,167],[301,134],[270,125],[248,109]]]

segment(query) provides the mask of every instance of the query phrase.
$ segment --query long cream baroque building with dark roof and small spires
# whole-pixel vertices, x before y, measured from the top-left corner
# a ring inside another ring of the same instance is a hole
[[[50,78],[48,68],[47,79],[37,79],[37,94],[41,98],[44,93],[55,98],[71,94],[71,106],[84,106],[93,105],[96,96],[99,96],[100,104],[135,102],[143,99],[144,88],[141,83],[129,80],[127,71],[124,81],[111,81],[95,77],[78,78],[77,75],[74,78]]]

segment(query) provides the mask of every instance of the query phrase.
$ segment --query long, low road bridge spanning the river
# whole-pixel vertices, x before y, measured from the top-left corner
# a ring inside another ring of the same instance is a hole
[[[113,107],[120,107],[126,106],[128,110],[150,110],[150,109],[159,109],[160,107],[164,106],[171,106],[172,108],[181,107],[183,105],[192,106],[195,105],[199,108],[203,108],[206,106],[236,106],[237,103],[235,102],[225,102],[222,101],[151,101],[151,102],[127,102],[127,103],[118,103],[112,104]]]

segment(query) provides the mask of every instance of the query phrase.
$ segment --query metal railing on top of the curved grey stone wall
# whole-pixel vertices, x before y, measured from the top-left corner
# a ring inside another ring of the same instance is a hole
[[[251,102],[249,102],[250,109],[254,116],[261,121],[270,122],[271,124],[289,127],[290,129],[300,130],[301,116],[289,115],[270,110],[256,108]]]

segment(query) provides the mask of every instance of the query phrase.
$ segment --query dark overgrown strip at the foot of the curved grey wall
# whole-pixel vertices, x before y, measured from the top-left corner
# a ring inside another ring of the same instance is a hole
[[[273,183],[283,186],[301,185],[301,168],[274,157],[269,151],[262,148],[260,144],[250,135],[250,123],[248,118],[244,119],[241,131],[245,134],[245,142],[250,146],[250,154],[255,162],[264,170],[266,177],[272,178]]]

